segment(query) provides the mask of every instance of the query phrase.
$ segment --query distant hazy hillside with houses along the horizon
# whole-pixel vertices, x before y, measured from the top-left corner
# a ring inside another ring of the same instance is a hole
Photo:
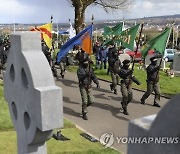
[[[101,29],[105,25],[107,26],[114,26],[118,22],[122,22],[122,19],[120,20],[107,20],[107,21],[94,21],[94,29]],[[167,16],[155,16],[155,17],[144,17],[144,18],[138,18],[138,19],[127,19],[124,20],[125,25],[128,27],[131,27],[132,25],[136,23],[145,23],[147,26],[165,26],[167,24],[172,24],[173,22],[175,25],[180,25],[180,14],[176,15],[167,15]],[[39,25],[43,25],[45,23],[38,23],[38,24],[20,24],[16,23],[15,27],[17,30],[29,30],[30,28]],[[87,25],[91,24],[91,22],[87,22]],[[57,25],[59,30],[67,30],[69,28],[69,23],[53,23],[53,29],[57,30]],[[0,24],[0,28],[10,28],[13,30],[14,24]]]

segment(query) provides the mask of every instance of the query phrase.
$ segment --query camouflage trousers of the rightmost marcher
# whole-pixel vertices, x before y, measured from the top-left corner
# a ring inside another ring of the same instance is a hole
[[[145,101],[152,92],[155,92],[154,103],[160,102],[160,86],[159,82],[153,83],[147,81],[147,91],[142,96],[141,100]]]

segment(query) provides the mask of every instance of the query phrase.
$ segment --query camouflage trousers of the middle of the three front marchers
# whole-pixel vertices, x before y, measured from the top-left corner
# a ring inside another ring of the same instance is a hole
[[[121,93],[122,93],[122,108],[127,108],[128,104],[131,102],[133,94],[131,85],[127,86],[125,83],[121,83]]]

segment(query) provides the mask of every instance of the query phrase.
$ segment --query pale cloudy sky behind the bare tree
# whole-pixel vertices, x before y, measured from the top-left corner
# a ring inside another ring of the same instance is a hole
[[[74,8],[70,0],[0,0],[0,24],[4,23],[48,23],[74,22]],[[180,0],[134,0],[124,11],[110,11],[91,5],[86,10],[85,21],[91,16],[98,20],[122,20],[180,14]]]

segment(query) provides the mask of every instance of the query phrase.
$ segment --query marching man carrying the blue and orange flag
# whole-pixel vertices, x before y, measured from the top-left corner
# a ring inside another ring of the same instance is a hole
[[[87,107],[94,103],[92,95],[92,80],[100,88],[97,77],[94,71],[89,67],[89,62],[85,61],[82,63],[82,67],[77,70],[77,76],[79,80],[79,90],[82,98],[82,115],[84,120],[88,120]]]

